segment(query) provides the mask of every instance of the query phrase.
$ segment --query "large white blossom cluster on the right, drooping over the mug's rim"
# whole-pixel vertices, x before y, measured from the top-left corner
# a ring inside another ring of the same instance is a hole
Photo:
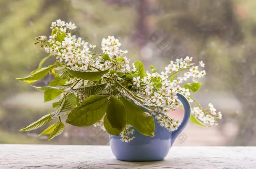
[[[178,121],[171,119],[165,112],[174,110],[175,106],[179,105],[176,93],[180,92],[185,95],[190,102],[193,100],[188,88],[181,87],[180,84],[192,77],[194,82],[198,78],[204,77],[206,72],[199,71],[199,68],[204,68],[204,63],[199,62],[198,66],[193,66],[192,57],[186,56],[184,59],[179,58],[176,61],[170,61],[165,67],[165,72],[161,74],[156,71],[146,73],[144,77],[133,78],[133,88],[138,88],[137,95],[143,97],[145,100],[159,105],[161,108],[157,111],[158,114],[153,113],[158,123],[169,131],[173,131],[178,127]],[[179,76],[179,73],[182,73]],[[171,80],[170,80],[171,78]]]

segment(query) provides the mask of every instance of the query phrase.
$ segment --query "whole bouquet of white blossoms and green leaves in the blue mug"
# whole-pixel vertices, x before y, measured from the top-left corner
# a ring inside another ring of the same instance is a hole
[[[44,91],[45,102],[60,97],[52,104],[51,113],[20,131],[38,129],[58,119],[39,136],[50,134],[50,140],[60,135],[64,130],[63,120],[73,126],[100,126],[109,134],[120,135],[125,142],[134,139],[134,129],[154,136],[154,118],[156,125],[168,131],[178,128],[179,121],[167,116],[167,112],[180,105],[177,92],[194,102],[191,121],[195,124],[217,125],[217,119],[222,118],[211,103],[203,108],[191,96],[201,86],[198,79],[206,74],[202,61],[195,66],[192,57],[186,56],[170,61],[161,73],[153,66],[148,72],[141,61],[130,65],[125,56],[127,50],[120,49],[121,43],[114,36],[102,39],[102,54],[99,54],[94,52],[96,45],[72,35],[75,24],[59,19],[50,28],[49,38],[39,36],[35,42],[49,55],[29,76],[17,79],[33,83],[50,74],[54,78],[48,86],[33,87]],[[42,67],[50,57],[55,57],[56,62]],[[190,78],[193,83],[184,83]]]

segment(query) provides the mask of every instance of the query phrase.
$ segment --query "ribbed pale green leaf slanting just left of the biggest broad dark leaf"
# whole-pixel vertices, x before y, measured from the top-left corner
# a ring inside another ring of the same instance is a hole
[[[54,119],[63,114],[68,114],[73,110],[75,106],[76,106],[76,101],[67,99],[66,97],[64,97],[60,103],[60,107],[51,113],[51,118]]]

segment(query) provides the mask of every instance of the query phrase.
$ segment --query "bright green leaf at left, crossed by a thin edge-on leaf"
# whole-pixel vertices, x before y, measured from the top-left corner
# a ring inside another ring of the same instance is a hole
[[[59,75],[56,75],[55,78],[50,82],[49,86],[63,85],[66,83],[66,81],[67,79],[61,79]],[[62,92],[63,91],[57,90],[55,88],[46,89],[44,91],[44,102],[57,98]]]

